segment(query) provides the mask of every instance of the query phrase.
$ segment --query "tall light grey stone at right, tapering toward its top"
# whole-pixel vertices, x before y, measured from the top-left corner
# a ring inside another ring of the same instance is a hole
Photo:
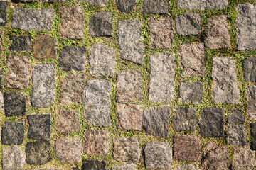
[[[240,102],[235,62],[231,57],[213,57],[214,103]]]

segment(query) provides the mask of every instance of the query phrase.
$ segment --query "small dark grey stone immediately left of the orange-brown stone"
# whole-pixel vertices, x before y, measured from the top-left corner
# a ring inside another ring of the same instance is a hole
[[[30,52],[32,45],[32,38],[30,35],[9,35],[11,40],[11,46],[9,50],[11,52]]]

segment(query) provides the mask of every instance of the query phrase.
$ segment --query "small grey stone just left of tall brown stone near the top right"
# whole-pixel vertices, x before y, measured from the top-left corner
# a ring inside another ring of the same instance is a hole
[[[176,19],[178,35],[197,35],[201,33],[201,19],[198,13],[183,13]]]

